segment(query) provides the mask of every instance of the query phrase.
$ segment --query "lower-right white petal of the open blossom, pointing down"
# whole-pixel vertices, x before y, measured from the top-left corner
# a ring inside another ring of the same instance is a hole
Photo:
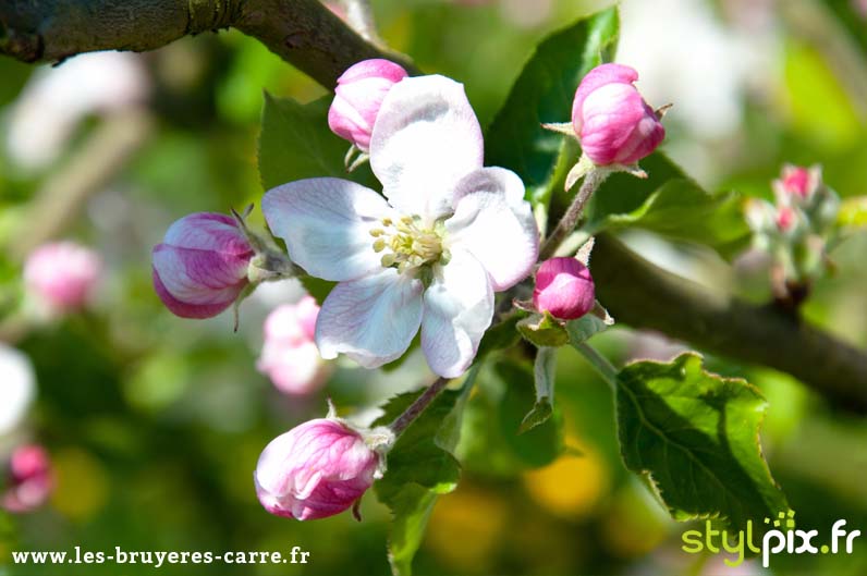
[[[493,290],[485,269],[471,254],[452,253],[425,291],[422,350],[430,369],[445,378],[461,376],[492,318]]]

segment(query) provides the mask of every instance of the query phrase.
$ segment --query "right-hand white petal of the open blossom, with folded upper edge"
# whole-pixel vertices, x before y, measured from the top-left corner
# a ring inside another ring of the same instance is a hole
[[[524,184],[511,170],[484,168],[464,177],[445,229],[448,247],[473,254],[496,292],[525,279],[539,256],[536,220]]]

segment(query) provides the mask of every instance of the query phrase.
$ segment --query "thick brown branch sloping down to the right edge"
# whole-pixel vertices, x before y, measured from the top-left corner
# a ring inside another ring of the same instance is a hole
[[[591,270],[599,299],[618,321],[787,372],[837,406],[867,413],[863,351],[772,306],[715,298],[607,234],[596,238]]]

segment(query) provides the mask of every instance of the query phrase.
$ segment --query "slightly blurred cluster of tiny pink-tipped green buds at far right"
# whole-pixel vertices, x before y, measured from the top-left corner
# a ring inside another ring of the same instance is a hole
[[[786,164],[772,187],[776,204],[750,199],[746,218],[755,247],[773,260],[776,299],[797,306],[829,267],[827,247],[837,230],[840,198],[822,182],[818,166]]]

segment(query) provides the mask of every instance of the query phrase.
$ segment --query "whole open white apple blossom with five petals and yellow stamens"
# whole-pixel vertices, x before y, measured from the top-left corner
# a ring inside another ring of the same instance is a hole
[[[382,101],[370,167],[384,198],[333,177],[269,191],[271,231],[307,273],[339,284],[316,343],[367,368],[403,355],[415,333],[431,369],[460,376],[490,326],[493,293],[529,274],[538,231],[521,179],[483,168],[481,130],[463,86],[406,78]]]

